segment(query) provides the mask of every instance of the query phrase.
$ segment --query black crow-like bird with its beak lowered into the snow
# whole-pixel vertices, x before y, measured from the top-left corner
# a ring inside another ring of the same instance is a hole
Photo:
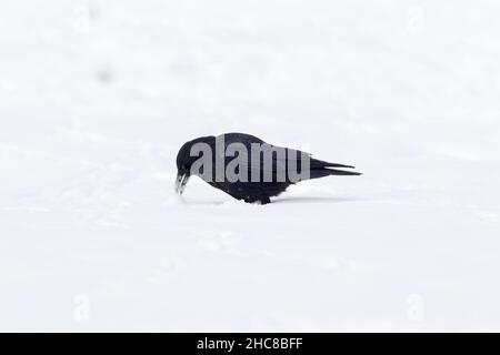
[[[223,145],[220,142],[223,142]],[[233,151],[236,150],[237,153],[228,154],[228,148],[231,145],[236,148]],[[252,151],[252,146],[261,148],[261,151],[258,152],[259,155],[257,155],[257,151]],[[203,156],[203,153],[197,148],[209,149],[209,151],[203,151],[209,156]],[[194,149],[194,152],[192,149]],[[252,154],[252,152],[254,153]],[[277,152],[281,152],[282,155]],[[270,153],[268,156],[271,156],[270,162],[272,164],[266,164],[264,156],[267,153]],[[256,162],[252,160],[252,155],[253,158],[260,159]],[[206,159],[204,165],[200,164],[202,156]],[[226,172],[226,169],[231,166],[231,161],[233,161],[232,166],[236,165],[234,162],[237,159],[240,164],[233,171],[243,179],[234,181],[234,178],[231,180],[229,175],[229,178],[219,176],[218,179],[217,173],[220,173],[220,168]],[[309,160],[309,166],[307,166],[303,159]],[[218,162],[219,165],[217,165]],[[211,166],[209,166],[210,164]],[[219,170],[217,166],[219,166]],[[290,173],[291,168],[297,168],[294,171],[303,175],[299,179],[296,175],[292,176]],[[213,187],[222,190],[237,200],[243,200],[248,203],[267,204],[271,202],[270,197],[279,195],[288,186],[301,180],[329,175],[361,175],[358,172],[332,168],[353,169],[354,166],[316,160],[309,153],[274,146],[257,136],[244,133],[202,136],[183,144],[177,155],[178,175],[176,192],[182,194],[189,178],[191,175],[198,175]],[[267,180],[264,176],[267,176]],[[272,179],[270,180],[270,178]]]

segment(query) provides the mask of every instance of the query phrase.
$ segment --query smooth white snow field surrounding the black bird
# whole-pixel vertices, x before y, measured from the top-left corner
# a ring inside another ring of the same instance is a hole
[[[2,1],[0,329],[500,331],[499,13]],[[364,175],[180,201],[231,131]]]

